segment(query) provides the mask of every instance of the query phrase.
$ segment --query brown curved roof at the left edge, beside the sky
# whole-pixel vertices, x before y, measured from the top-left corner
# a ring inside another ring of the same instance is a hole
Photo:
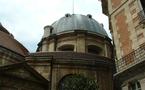
[[[1,24],[0,24],[0,46],[19,53],[23,56],[28,54],[28,50],[14,39],[12,34],[10,34]]]

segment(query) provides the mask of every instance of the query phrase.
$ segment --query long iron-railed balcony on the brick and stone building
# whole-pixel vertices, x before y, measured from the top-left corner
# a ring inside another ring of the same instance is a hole
[[[117,73],[123,72],[143,61],[145,61],[145,43],[140,48],[116,61]]]

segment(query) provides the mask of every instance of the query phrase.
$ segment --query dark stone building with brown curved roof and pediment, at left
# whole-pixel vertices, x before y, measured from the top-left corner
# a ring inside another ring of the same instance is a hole
[[[28,53],[0,25],[0,90],[48,90],[48,80],[25,63]]]

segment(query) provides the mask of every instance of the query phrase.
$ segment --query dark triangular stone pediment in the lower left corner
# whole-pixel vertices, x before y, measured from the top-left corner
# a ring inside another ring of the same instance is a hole
[[[0,67],[0,90],[48,90],[48,81],[26,63]]]

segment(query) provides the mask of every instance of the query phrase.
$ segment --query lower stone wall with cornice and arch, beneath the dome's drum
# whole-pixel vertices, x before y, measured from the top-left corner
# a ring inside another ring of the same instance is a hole
[[[52,83],[52,90],[57,90],[61,79],[70,74],[97,80],[101,90],[113,89],[113,62],[109,58],[75,52],[44,52],[33,53],[26,60]]]

